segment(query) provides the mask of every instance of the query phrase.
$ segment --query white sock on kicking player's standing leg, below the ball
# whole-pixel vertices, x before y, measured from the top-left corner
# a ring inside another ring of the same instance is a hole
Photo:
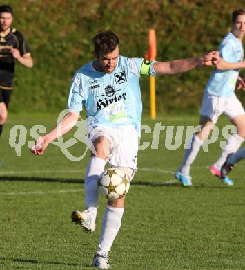
[[[110,248],[121,227],[121,218],[124,215],[124,208],[116,208],[107,205],[102,222],[101,237],[99,239],[99,251],[110,251]]]

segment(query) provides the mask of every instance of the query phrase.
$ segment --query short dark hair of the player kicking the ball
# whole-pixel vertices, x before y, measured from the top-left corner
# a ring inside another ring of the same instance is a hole
[[[112,31],[105,31],[97,34],[92,42],[95,45],[95,54],[99,55],[99,52],[111,53],[119,45],[119,38]]]

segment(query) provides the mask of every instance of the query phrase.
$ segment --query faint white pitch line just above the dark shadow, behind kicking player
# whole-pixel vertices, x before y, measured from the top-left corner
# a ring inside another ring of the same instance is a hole
[[[201,169],[201,168],[208,168],[208,166],[195,166],[192,167],[192,169]],[[177,168],[176,168],[177,169]],[[176,170],[175,169],[175,170]],[[173,174],[175,173],[175,170],[163,170],[159,168],[139,168],[138,171],[141,172],[161,172],[164,174]],[[17,171],[17,170],[0,170],[0,176],[1,175],[6,175],[6,174],[64,174],[64,173],[79,173],[81,174],[83,170],[22,170],[22,171]]]

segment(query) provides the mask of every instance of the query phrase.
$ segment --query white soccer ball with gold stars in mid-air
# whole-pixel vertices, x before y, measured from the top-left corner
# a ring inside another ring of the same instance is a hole
[[[105,170],[98,181],[99,192],[110,201],[123,198],[129,190],[129,179],[124,171],[116,168]]]

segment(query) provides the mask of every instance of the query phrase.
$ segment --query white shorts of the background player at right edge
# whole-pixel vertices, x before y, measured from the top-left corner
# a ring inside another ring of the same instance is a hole
[[[204,93],[202,98],[202,109],[199,111],[202,116],[208,116],[213,123],[217,123],[219,116],[224,114],[230,120],[236,116],[245,114],[242,103],[236,96],[227,98],[224,96],[213,96]]]

